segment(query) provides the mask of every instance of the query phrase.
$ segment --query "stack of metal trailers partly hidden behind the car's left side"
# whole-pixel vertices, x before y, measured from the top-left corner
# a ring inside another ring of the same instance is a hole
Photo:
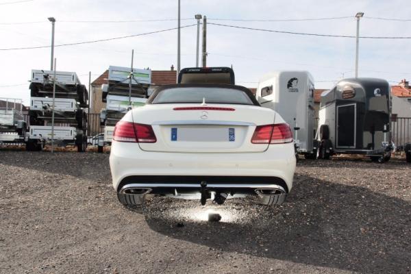
[[[109,67],[108,84],[101,86],[102,101],[106,103],[106,108],[100,113],[100,123],[104,125],[104,134],[99,137],[99,152],[103,152],[105,144],[111,144],[114,126],[127,111],[145,104],[150,84],[151,70],[149,69]]]

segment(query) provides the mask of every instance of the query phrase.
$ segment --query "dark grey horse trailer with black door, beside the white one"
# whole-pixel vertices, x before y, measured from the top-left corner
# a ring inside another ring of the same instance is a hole
[[[318,158],[335,153],[386,162],[395,149],[390,134],[390,86],[384,79],[343,79],[323,92],[316,141]]]

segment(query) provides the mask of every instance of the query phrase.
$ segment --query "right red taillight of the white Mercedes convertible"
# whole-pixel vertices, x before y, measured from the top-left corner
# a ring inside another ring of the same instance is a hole
[[[292,132],[286,123],[259,125],[251,138],[253,144],[284,144],[292,142]]]

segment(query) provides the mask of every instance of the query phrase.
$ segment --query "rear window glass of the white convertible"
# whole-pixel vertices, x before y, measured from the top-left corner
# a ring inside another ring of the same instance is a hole
[[[151,103],[234,103],[254,105],[242,90],[232,88],[169,88],[161,90]]]

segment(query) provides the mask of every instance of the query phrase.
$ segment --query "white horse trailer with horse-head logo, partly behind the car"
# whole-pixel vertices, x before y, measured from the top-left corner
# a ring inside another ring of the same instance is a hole
[[[296,153],[314,158],[314,79],[307,71],[277,71],[264,75],[256,98],[265,108],[275,110],[294,128]]]

